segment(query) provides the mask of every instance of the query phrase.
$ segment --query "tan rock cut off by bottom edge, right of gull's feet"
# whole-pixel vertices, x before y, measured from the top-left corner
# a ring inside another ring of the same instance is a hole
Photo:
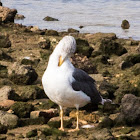
[[[103,128],[103,129],[93,131],[93,139],[97,139],[97,140],[114,140],[115,138],[111,134],[109,129]]]

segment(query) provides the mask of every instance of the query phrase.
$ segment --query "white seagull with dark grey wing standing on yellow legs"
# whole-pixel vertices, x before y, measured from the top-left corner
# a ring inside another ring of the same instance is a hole
[[[48,66],[42,76],[42,85],[46,95],[60,107],[60,130],[63,127],[63,107],[76,108],[77,126],[79,130],[79,108],[92,102],[104,104],[96,88],[95,80],[86,72],[75,68],[70,58],[75,53],[76,41],[72,36],[60,40],[50,55]]]

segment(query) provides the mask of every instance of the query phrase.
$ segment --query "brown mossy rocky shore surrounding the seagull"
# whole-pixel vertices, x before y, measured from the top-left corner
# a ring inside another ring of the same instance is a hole
[[[114,33],[26,27],[14,23],[16,14],[16,9],[0,6],[0,140],[140,139],[140,41]],[[81,108],[77,132],[67,132],[76,126],[75,109],[65,109],[66,132],[57,129],[59,108],[41,83],[49,55],[69,34],[77,42],[72,63],[93,77],[102,96],[113,101]]]

